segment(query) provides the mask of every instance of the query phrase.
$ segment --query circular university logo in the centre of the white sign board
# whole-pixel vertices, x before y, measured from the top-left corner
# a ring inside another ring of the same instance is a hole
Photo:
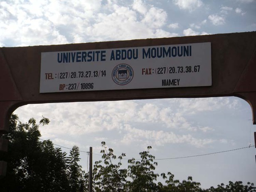
[[[128,64],[118,64],[112,71],[112,79],[118,85],[126,85],[133,79],[133,69]]]

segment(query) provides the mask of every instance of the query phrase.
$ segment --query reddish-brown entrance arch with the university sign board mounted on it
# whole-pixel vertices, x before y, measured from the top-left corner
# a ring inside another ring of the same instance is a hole
[[[30,103],[237,96],[256,124],[255,74],[256,32],[1,47],[0,136]]]

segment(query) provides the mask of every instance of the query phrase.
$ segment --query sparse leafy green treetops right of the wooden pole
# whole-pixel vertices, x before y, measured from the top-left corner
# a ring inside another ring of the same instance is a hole
[[[121,160],[125,154],[122,153],[116,158],[113,149],[107,149],[105,142],[101,144],[102,160],[95,162],[93,170],[95,192],[256,192],[253,183],[243,185],[242,182],[229,182],[226,186],[221,184],[217,188],[202,189],[201,184],[193,181],[191,176],[180,182],[174,179],[171,172],[161,174],[164,184],[162,182],[156,184],[159,175],[154,170],[158,163],[150,154],[150,146],[147,151],[139,153],[140,160],[129,159],[128,169],[121,169]],[[116,159],[118,159],[117,164],[114,163]],[[88,174],[86,174],[86,182],[88,183]]]

